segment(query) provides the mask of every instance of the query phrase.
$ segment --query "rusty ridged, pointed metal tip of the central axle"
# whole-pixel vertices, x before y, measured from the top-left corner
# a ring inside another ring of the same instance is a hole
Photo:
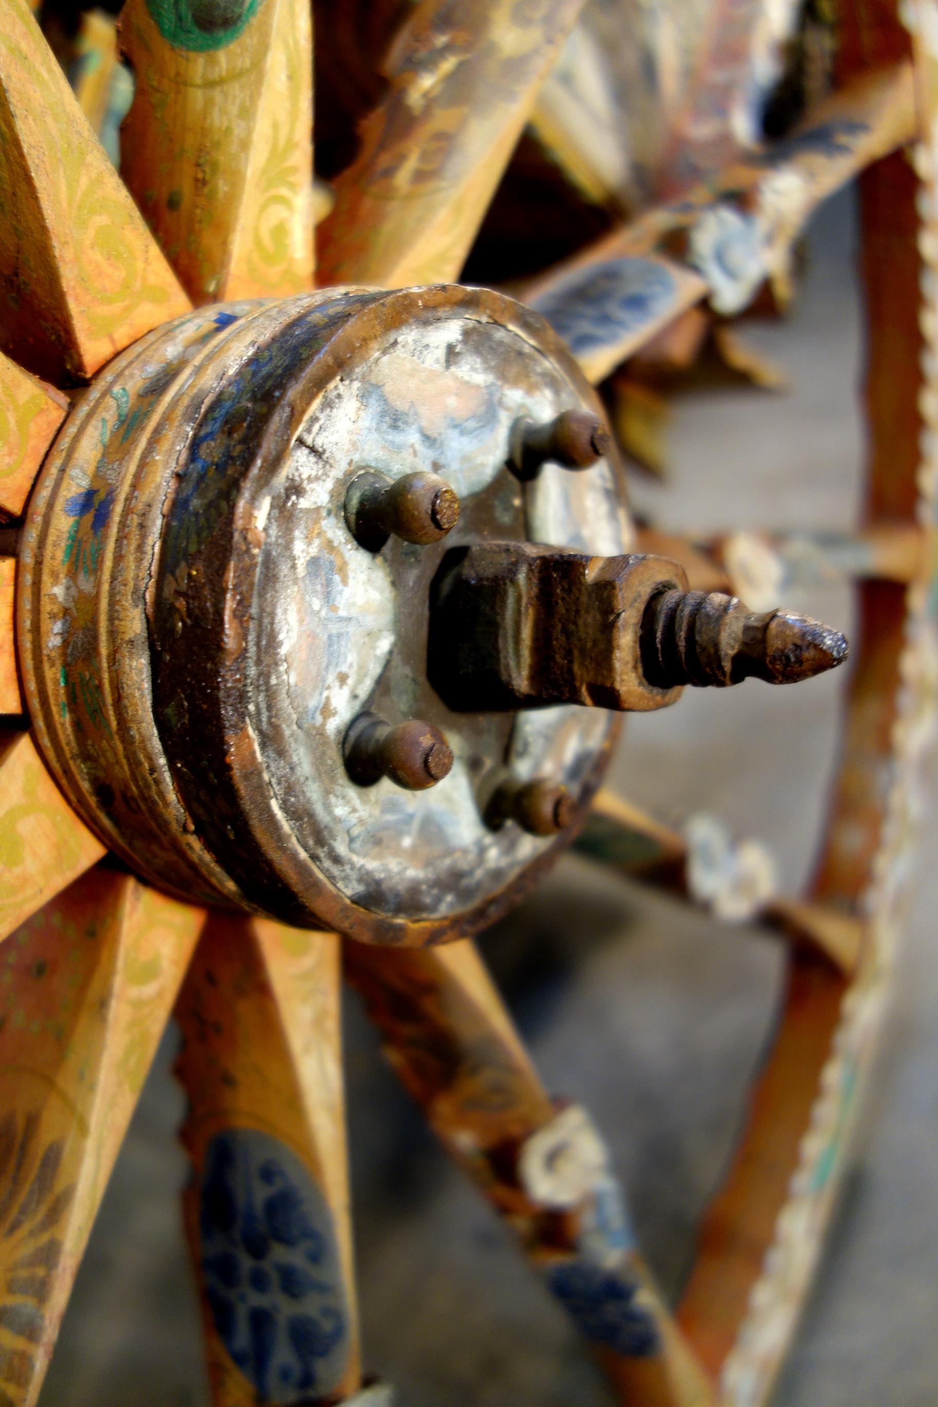
[[[747,611],[721,591],[662,591],[645,606],[641,666],[657,688],[796,684],[842,664],[838,630],[795,611]]]

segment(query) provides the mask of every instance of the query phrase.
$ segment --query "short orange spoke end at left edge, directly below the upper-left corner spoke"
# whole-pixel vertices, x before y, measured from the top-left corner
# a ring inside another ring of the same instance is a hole
[[[0,356],[0,518],[18,518],[69,402]]]

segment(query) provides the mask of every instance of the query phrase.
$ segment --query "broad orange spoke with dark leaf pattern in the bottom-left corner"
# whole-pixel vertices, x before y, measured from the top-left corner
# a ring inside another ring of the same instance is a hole
[[[203,916],[96,868],[0,954],[0,1401],[32,1407]]]

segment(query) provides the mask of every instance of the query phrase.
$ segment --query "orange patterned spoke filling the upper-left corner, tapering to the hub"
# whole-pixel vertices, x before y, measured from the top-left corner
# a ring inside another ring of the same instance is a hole
[[[0,30],[0,348],[83,380],[188,307],[25,0]]]

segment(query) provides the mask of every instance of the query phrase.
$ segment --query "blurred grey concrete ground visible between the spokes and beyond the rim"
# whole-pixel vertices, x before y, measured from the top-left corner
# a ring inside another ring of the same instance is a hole
[[[674,473],[636,485],[669,526],[848,526],[858,491],[859,332],[852,207],[817,221],[803,297],[751,338],[789,395],[696,390]],[[849,628],[825,588],[792,605]],[[765,840],[786,886],[810,865],[842,681],[747,684],[629,720],[615,785],[664,819],[707,810]],[[854,1173],[779,1407],[931,1407],[938,1399],[938,846],[925,840],[889,1037]],[[737,1135],[771,1029],[780,950],[747,929],[567,860],[485,938],[548,1086],[589,1106],[671,1294]],[[368,1368],[399,1407],[603,1407],[560,1310],[454,1172],[381,1064],[353,999],[347,1079]],[[41,1407],[207,1407],[177,1189],[181,1095],[165,1043],[121,1154]]]

